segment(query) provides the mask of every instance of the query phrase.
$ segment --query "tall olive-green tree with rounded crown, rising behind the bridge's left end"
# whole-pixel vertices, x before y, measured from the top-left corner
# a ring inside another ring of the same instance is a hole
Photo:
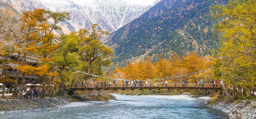
[[[110,48],[106,48],[102,42],[100,42],[100,38],[106,32],[104,31],[96,31],[96,24],[94,24],[91,29],[92,32],[88,35],[86,30],[79,30],[78,35],[80,36],[80,49],[79,55],[82,58],[82,61],[85,61],[87,64],[87,73],[93,73],[98,66],[101,65],[110,65],[111,61],[110,57],[113,56],[113,51]]]

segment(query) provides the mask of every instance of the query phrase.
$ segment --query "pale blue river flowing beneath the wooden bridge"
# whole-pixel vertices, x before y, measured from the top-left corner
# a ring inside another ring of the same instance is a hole
[[[226,119],[221,111],[201,106],[207,97],[125,96],[109,102],[72,102],[54,109],[13,111],[0,119]]]

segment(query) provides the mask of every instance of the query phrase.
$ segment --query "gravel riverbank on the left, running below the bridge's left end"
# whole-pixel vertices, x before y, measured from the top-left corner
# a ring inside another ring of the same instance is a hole
[[[74,94],[72,94],[74,95]],[[20,110],[35,110],[44,108],[54,108],[66,105],[70,102],[85,102],[99,101],[107,102],[110,99],[116,98],[110,94],[101,95],[84,95],[84,96],[69,96],[69,98],[32,98],[32,99],[17,99],[12,97],[12,94],[6,94],[5,98],[0,98],[0,112],[20,111]]]

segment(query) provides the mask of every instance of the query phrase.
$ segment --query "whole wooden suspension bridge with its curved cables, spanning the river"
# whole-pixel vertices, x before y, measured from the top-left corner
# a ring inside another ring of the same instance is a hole
[[[208,68],[208,69],[204,69],[201,71],[197,71],[197,72],[193,72],[193,73],[188,73],[188,74],[183,74],[183,75],[178,75],[178,76],[173,76],[173,77],[166,77],[166,78],[160,78],[160,79],[147,79],[147,80],[139,80],[139,82],[137,82],[136,84],[128,84],[128,83],[122,83],[122,84],[96,84],[96,77],[97,79],[102,79],[102,80],[108,80],[110,82],[112,81],[126,81],[124,79],[113,79],[113,78],[108,78],[108,77],[100,77],[97,75],[92,75],[92,74],[88,74],[85,73],[83,71],[79,71],[76,69],[72,69],[69,68],[73,71],[76,71],[77,73],[83,73],[87,75],[90,75],[92,78],[91,80],[94,80],[93,82],[95,82],[94,84],[70,84],[70,85],[64,85],[63,88],[66,90],[126,90],[126,89],[205,89],[205,90],[223,90],[222,88],[222,84],[202,84],[202,83],[143,83],[143,81],[161,81],[161,80],[170,80],[170,79],[177,79],[180,77],[187,77],[190,75],[194,75],[197,73],[201,73],[204,71],[207,71],[209,69],[213,69],[213,67]],[[128,80],[130,81],[130,80]],[[140,83],[141,81],[141,83]]]

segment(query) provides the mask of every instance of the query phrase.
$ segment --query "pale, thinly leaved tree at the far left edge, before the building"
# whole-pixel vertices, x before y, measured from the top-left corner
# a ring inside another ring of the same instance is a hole
[[[4,77],[0,77],[0,83],[15,82],[13,96],[17,96],[18,78],[16,80],[8,78],[7,69],[16,69],[19,72],[17,61],[10,60],[9,55],[19,52],[17,46],[17,35],[19,31],[19,15],[9,4],[4,4],[0,9],[0,69],[3,70]],[[19,59],[18,59],[19,60]],[[4,97],[4,93],[2,93]]]

